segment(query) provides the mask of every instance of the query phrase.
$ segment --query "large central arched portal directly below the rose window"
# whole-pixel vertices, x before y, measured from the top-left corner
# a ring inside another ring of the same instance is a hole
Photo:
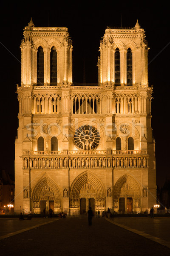
[[[94,211],[105,210],[105,187],[102,181],[92,172],[85,171],[71,184],[70,189],[70,213],[79,213],[81,210],[81,202],[83,202],[84,210],[88,210],[91,202],[94,202]],[[93,199],[92,199],[93,198]]]

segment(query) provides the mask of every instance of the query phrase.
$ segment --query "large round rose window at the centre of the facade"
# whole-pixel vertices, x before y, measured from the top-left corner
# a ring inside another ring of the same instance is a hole
[[[92,125],[82,125],[74,133],[74,143],[79,149],[93,150],[99,142],[99,131]]]

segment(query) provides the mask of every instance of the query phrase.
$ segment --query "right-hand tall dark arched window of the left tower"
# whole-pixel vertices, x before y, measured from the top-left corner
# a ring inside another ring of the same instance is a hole
[[[54,46],[50,52],[50,83],[57,84],[57,51]]]

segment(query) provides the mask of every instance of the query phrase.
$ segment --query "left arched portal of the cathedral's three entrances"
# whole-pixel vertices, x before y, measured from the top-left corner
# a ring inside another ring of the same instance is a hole
[[[33,213],[42,213],[43,209],[53,208],[54,213],[60,212],[61,195],[57,184],[48,177],[42,178],[32,193]]]

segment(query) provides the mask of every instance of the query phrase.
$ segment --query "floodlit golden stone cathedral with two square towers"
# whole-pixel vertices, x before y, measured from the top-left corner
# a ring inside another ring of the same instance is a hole
[[[152,87],[144,29],[107,27],[99,80],[72,81],[66,27],[35,27],[21,43],[15,211],[139,213],[156,203]],[[96,60],[97,62],[97,60]]]

